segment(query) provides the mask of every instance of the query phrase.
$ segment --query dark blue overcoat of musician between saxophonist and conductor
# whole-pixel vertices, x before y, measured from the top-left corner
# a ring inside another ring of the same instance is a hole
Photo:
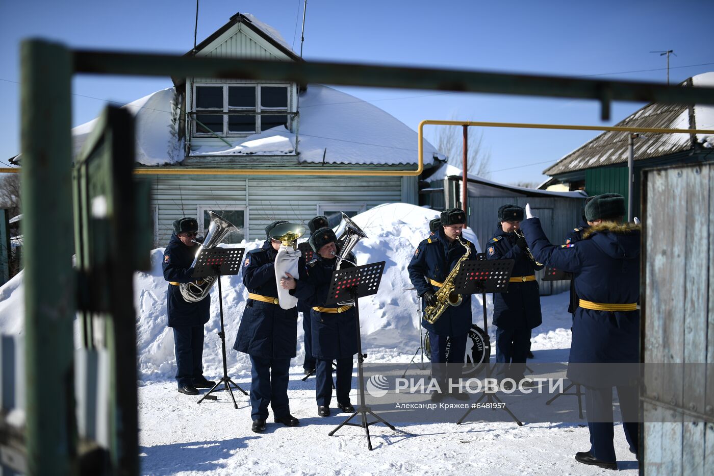
[[[526,250],[516,244],[517,239],[515,233],[504,232],[498,224],[496,233],[486,245],[486,257],[515,259],[511,277],[532,276],[538,269],[543,269],[543,265],[533,264]],[[542,323],[537,281],[510,282],[508,292],[493,293],[493,325],[503,329],[533,329]]]

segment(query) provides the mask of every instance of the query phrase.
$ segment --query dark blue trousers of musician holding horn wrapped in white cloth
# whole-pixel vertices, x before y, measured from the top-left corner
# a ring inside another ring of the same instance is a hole
[[[290,413],[288,382],[290,357],[268,359],[251,355],[251,418],[267,420],[268,404],[273,417],[282,418]]]

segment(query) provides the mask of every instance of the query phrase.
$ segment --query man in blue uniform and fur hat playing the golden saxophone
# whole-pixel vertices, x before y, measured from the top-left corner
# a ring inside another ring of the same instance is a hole
[[[463,227],[466,225],[466,213],[462,209],[451,208],[441,212],[440,218],[441,227],[436,230],[433,237],[419,243],[407,267],[411,283],[423,298],[424,308],[426,305],[437,304],[436,292],[451,269],[466,254],[466,247],[470,249],[468,259],[476,259],[476,247],[462,236]],[[462,298],[461,304],[448,306],[433,324],[426,319],[421,321],[421,326],[429,334],[431,372],[440,390],[431,394],[431,400],[434,402],[443,400],[447,390],[451,390],[451,386],[448,385],[449,380],[456,382],[461,378],[461,371],[458,374],[455,372],[456,366],[443,364],[463,364],[466,337],[468,329],[471,329],[472,318],[471,295]],[[449,342],[448,355],[447,342]],[[458,400],[468,400],[468,395],[462,392],[452,392],[452,395]]]

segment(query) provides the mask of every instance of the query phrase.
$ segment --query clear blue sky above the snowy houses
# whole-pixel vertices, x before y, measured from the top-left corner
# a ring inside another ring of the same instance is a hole
[[[241,11],[276,28],[288,44],[294,38],[294,49],[299,51],[302,6],[303,0],[200,0],[198,41]],[[0,101],[5,106],[0,116],[0,161],[19,152],[21,39],[35,36],[73,47],[183,54],[193,46],[195,13],[195,0],[0,0]],[[665,59],[649,51],[673,49],[678,56],[670,59],[670,80],[677,82],[714,71],[714,36],[707,24],[711,13],[710,0],[309,0],[303,51],[308,60],[598,74],[664,82]],[[651,69],[659,70],[619,74]],[[102,100],[126,103],[167,86],[171,86],[169,78],[77,77],[72,125],[93,119],[104,106]],[[373,101],[415,130],[422,119],[454,117],[603,124],[595,101],[339,89]],[[609,124],[641,105],[613,104]],[[428,135],[433,137],[433,132]],[[540,172],[548,164],[594,135],[486,129],[483,143],[491,150],[491,178],[540,182],[544,179]]]

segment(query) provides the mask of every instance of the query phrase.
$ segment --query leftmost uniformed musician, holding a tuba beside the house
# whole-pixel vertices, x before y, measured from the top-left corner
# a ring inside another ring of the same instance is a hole
[[[179,286],[195,281],[193,259],[198,246],[193,242],[198,232],[194,218],[183,217],[174,222],[174,233],[164,250],[164,279],[169,282],[166,306],[169,310],[169,327],[174,329],[176,352],[176,382],[178,392],[198,395],[199,388],[211,388],[215,382],[203,377],[203,326],[208,322],[211,298],[186,302]]]

